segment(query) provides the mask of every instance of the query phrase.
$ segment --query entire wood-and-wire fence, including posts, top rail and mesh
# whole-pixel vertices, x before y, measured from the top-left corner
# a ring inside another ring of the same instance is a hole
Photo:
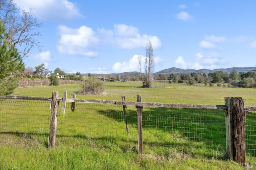
[[[229,123],[233,118],[232,115],[228,116],[228,113],[234,112],[233,107],[145,103],[140,102],[140,95],[136,102],[131,102],[125,101],[124,97],[122,101],[112,101],[76,99],[74,95],[74,98],[66,98],[65,94],[63,97],[0,95],[1,136],[14,134],[15,138],[23,140],[39,136],[41,143],[48,143],[49,147],[55,146],[55,143],[61,145],[63,141],[89,146],[105,141],[105,145],[108,145],[118,138],[129,145],[128,149],[138,147],[139,153],[143,152],[143,147],[175,146],[191,151],[205,147],[216,149],[221,145],[222,148],[226,147],[228,156],[236,160],[234,148],[231,148],[232,141],[236,140],[231,138],[235,127],[231,128]],[[237,102],[238,99],[226,100],[228,103]],[[243,110],[247,113],[246,152],[256,155],[256,107],[245,106]],[[213,137],[216,134],[219,134],[218,138]],[[70,137],[74,140],[71,141]],[[8,138],[3,139],[8,141]]]

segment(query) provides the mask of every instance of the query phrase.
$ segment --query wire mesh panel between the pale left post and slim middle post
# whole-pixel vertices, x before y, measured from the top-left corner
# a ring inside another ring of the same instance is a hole
[[[70,145],[110,147],[118,144],[130,149],[137,144],[137,123],[135,107],[126,108],[126,121],[123,106],[96,103],[66,103],[65,116],[58,113],[56,144],[68,142]],[[59,109],[60,110],[60,109]],[[129,136],[128,136],[129,135]]]

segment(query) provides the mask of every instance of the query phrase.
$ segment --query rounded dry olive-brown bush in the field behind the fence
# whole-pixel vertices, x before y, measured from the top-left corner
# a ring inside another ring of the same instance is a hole
[[[89,77],[81,83],[81,89],[78,91],[81,95],[98,95],[105,90],[105,85],[96,77]]]

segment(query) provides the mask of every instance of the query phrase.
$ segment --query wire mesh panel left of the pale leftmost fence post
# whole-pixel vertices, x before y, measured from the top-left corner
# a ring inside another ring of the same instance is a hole
[[[46,144],[49,101],[0,99],[0,144]]]

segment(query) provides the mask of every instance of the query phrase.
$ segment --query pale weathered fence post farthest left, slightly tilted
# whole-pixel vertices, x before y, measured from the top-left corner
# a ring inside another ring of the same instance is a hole
[[[57,111],[58,104],[57,98],[59,97],[58,91],[52,92],[52,103],[51,103],[51,120],[50,120],[50,132],[48,139],[48,147],[55,146],[56,130],[57,130]]]

